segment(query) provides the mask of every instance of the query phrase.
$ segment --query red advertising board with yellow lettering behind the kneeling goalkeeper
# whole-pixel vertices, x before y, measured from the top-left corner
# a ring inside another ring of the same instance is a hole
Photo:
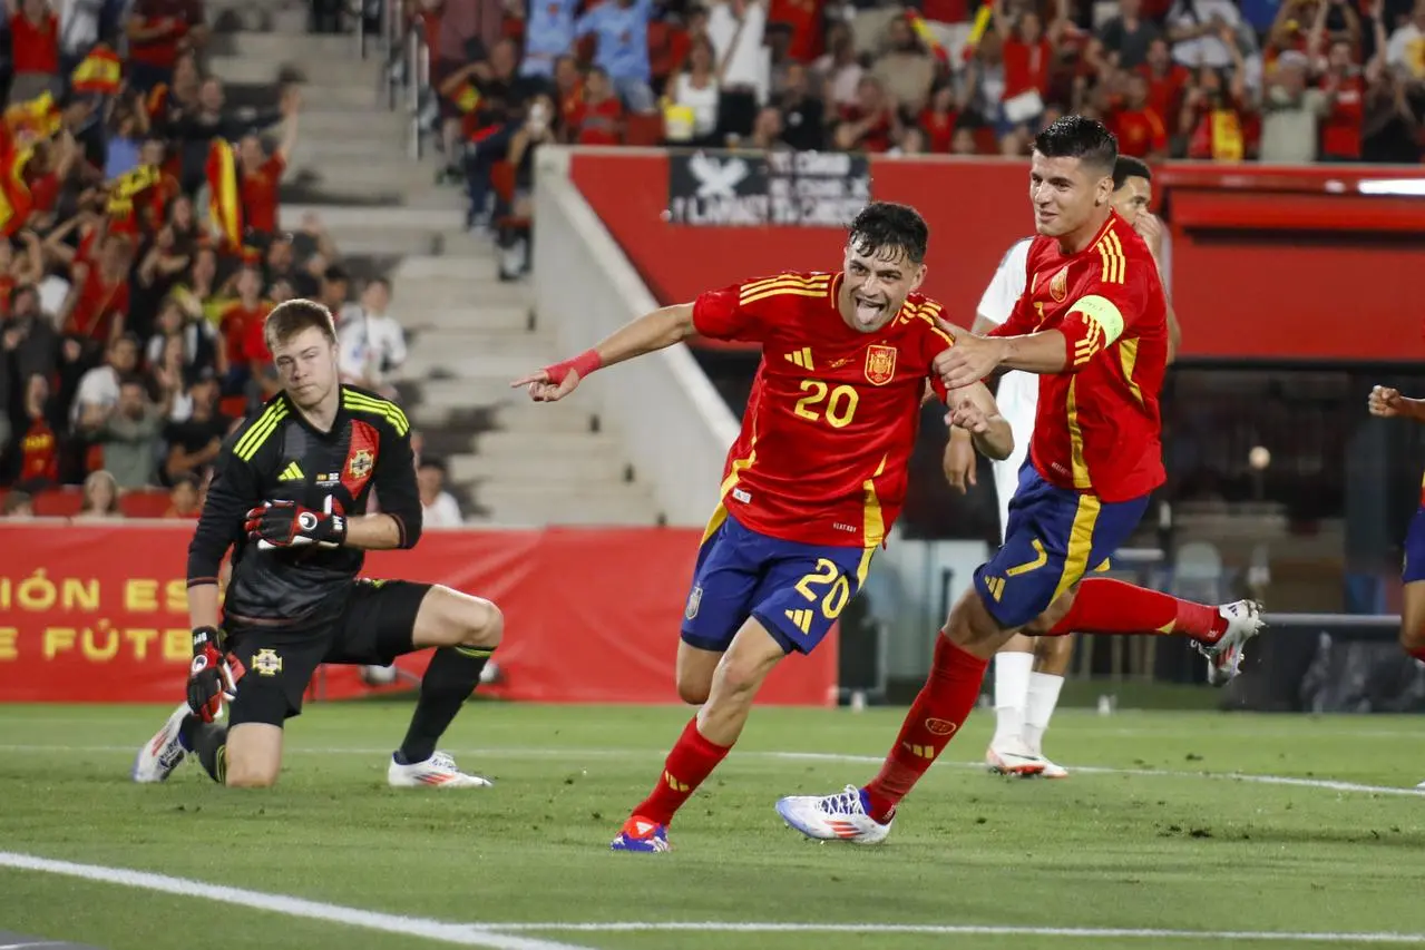
[[[177,702],[191,658],[184,561],[191,524],[0,528],[0,701]],[[428,531],[366,558],[370,577],[449,584],[506,618],[500,682],[542,702],[677,702],[673,662],[697,554],[684,528]],[[137,567],[144,565],[144,567]],[[398,665],[419,675],[430,651]],[[835,638],[789,657],[760,701],[835,701]],[[321,695],[370,692],[326,667]]]

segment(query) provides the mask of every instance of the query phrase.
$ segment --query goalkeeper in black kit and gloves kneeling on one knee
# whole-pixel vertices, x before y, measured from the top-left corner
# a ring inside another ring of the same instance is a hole
[[[325,306],[282,303],[264,333],[282,392],[218,456],[188,548],[188,701],[138,751],[133,778],[162,782],[195,753],[219,783],[269,786],[282,763],[282,725],[301,712],[318,665],[388,665],[435,647],[388,781],[487,786],[436,742],[500,642],[500,611],[439,584],[356,577],[363,551],[420,538],[410,424],[395,403],[338,382]],[[380,514],[365,514],[372,489]],[[219,628],[218,568],[229,547]],[[227,725],[218,722],[224,706]]]

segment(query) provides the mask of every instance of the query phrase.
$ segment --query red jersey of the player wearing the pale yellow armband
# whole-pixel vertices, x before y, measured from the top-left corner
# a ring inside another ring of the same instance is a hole
[[[1029,245],[1025,293],[992,336],[1059,330],[1062,373],[1039,377],[1029,457],[1045,481],[1127,501],[1163,484],[1159,392],[1167,372],[1167,299],[1143,238],[1116,212],[1087,248]]]

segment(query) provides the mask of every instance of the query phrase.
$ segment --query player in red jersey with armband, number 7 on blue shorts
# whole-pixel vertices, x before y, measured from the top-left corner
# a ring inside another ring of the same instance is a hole
[[[1116,160],[1109,130],[1082,115],[1035,140],[1029,195],[1037,236],[1026,291],[989,336],[959,333],[936,357],[952,389],[999,367],[1039,375],[1030,464],[1020,470],[1005,544],[950,611],[929,679],[881,772],[864,788],[777,803],[808,837],[884,840],[901,799],[969,716],[990,657],[1016,631],[1177,634],[1231,674],[1261,628],[1251,601],[1214,608],[1083,580],[1129,538],[1164,480],[1167,301],[1143,238],[1113,211]]]

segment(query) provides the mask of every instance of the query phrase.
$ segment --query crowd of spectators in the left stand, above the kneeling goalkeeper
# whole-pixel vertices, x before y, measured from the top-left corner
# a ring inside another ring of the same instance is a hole
[[[168,489],[170,514],[197,514],[221,440],[276,392],[262,320],[292,296],[339,315],[348,382],[392,392],[405,336],[389,283],[369,281],[358,296],[318,216],[279,226],[299,95],[229,107],[204,66],[202,0],[7,0],[6,27],[9,513],[84,486],[84,511]]]

